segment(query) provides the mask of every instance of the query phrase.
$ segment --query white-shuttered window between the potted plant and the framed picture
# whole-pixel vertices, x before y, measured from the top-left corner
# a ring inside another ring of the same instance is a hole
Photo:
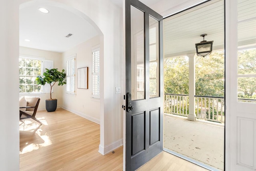
[[[70,57],[66,62],[66,93],[75,93],[76,56]]]

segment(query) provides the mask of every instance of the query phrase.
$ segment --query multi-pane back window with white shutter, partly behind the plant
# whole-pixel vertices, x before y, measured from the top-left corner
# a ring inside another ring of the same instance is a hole
[[[50,85],[37,85],[36,76],[42,76],[45,69],[53,68],[52,60],[42,60],[39,58],[19,58],[19,89],[20,93],[49,93]]]

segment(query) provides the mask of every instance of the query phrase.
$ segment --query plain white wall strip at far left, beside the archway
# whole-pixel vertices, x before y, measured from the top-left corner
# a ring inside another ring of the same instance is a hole
[[[3,3],[4,2],[4,3]],[[19,170],[19,4],[0,5],[0,170]]]

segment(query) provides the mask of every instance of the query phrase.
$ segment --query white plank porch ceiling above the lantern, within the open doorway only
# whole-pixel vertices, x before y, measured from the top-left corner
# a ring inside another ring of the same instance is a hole
[[[196,53],[201,34],[214,41],[214,49],[224,49],[224,0],[212,0],[164,19],[165,58]]]

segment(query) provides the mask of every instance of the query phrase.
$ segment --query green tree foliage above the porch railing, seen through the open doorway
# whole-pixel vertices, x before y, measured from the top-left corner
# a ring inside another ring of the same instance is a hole
[[[196,95],[224,97],[224,55],[195,56]],[[188,95],[188,57],[168,58],[164,64],[165,93]]]

